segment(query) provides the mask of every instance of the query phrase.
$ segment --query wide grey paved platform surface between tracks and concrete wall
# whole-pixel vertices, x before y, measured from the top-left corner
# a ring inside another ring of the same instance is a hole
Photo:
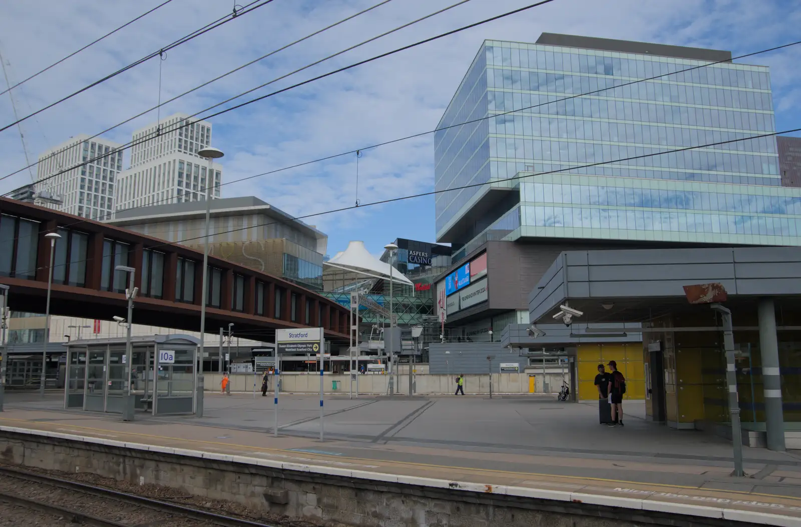
[[[269,395],[207,394],[202,418],[138,413],[134,423],[123,423],[110,414],[64,412],[55,393],[44,400],[11,393],[0,424],[321,464],[336,459],[454,481],[611,496],[661,492],[671,500],[723,500],[759,510],[772,503],[801,517],[801,453],[743,447],[752,477],[734,478],[730,442],[646,421],[642,402],[624,404],[626,426],[609,428],[598,424],[595,404],[553,396],[329,396],[320,443],[319,396],[280,396],[274,438]]]

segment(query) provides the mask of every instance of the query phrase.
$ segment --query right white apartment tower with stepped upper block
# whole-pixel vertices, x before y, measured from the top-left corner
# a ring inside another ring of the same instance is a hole
[[[119,176],[117,207],[206,199],[207,159],[197,153],[211,144],[211,123],[175,114],[134,132],[131,168]],[[214,163],[213,198],[219,198],[222,167]]]

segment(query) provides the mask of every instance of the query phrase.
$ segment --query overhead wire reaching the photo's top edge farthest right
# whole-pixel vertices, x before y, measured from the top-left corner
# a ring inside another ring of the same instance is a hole
[[[462,0],[461,2],[458,2],[458,4],[464,3],[465,1],[466,0]],[[463,30],[472,29],[473,27],[480,26],[481,24],[485,24],[487,22],[493,22],[495,20],[498,20],[499,18],[504,18],[504,17],[507,17],[507,16],[512,15],[512,14],[517,14],[517,13],[520,13],[521,11],[531,9],[533,7],[541,6],[543,4],[546,4],[546,3],[549,3],[549,2],[553,2],[553,1],[554,0],[541,0],[541,2],[535,2],[533,4],[529,4],[528,6],[523,6],[523,7],[519,8],[519,9],[512,10],[512,11],[509,11],[509,12],[504,13],[504,14],[499,14],[499,15],[494,16],[492,18],[486,18],[485,20],[482,20],[480,22],[473,22],[472,24],[469,24],[468,26],[462,26],[461,28],[458,28],[456,30],[450,30],[450,31],[448,31],[446,33],[442,33],[442,34],[439,34],[439,35],[431,37],[431,38],[425,38],[424,40],[415,42],[413,44],[409,44],[408,46],[403,46],[403,47],[397,48],[396,50],[388,51],[387,53],[376,55],[375,57],[368,58],[368,59],[360,61],[360,62],[355,62],[355,63],[353,63],[353,64],[351,64],[349,66],[341,67],[338,70],[333,70],[333,71],[330,71],[330,72],[328,72],[326,74],[321,74],[321,75],[318,75],[317,77],[310,78],[310,79],[305,80],[303,82],[298,82],[296,84],[293,84],[292,86],[287,86],[285,88],[282,88],[281,90],[274,91],[274,92],[272,92],[270,94],[262,95],[261,97],[258,97],[256,99],[252,99],[252,100],[247,101],[245,103],[238,104],[235,107],[230,107],[230,108],[227,108],[225,110],[218,111],[218,112],[216,112],[214,114],[198,118],[198,120],[211,119],[211,117],[216,117],[217,115],[222,115],[222,114],[227,113],[229,111],[237,110],[237,109],[239,109],[241,107],[247,106],[248,104],[256,103],[257,101],[267,99],[268,97],[272,97],[273,95],[278,95],[280,93],[284,93],[285,91],[290,91],[290,90],[292,90],[292,89],[294,89],[296,87],[304,86],[304,85],[309,84],[311,82],[315,82],[317,80],[320,80],[321,78],[326,78],[326,77],[328,77],[328,76],[330,76],[332,74],[337,74],[337,73],[340,73],[342,71],[354,68],[356,66],[361,66],[362,64],[365,64],[367,62],[372,62],[372,61],[374,61],[374,60],[376,60],[378,58],[384,58],[384,57],[386,57],[388,55],[395,54],[395,53],[398,53],[400,51],[409,50],[410,48],[413,48],[415,46],[420,46],[422,44],[425,44],[425,43],[428,43],[428,42],[432,42],[433,40],[437,40],[437,38],[444,38],[444,37],[449,36],[451,34],[455,34],[455,33],[458,33],[460,31],[463,31]],[[455,4],[455,5],[458,5],[458,4]],[[441,11],[442,10],[437,11],[437,13],[439,13]],[[250,91],[252,91],[252,90],[248,90],[248,91],[246,91],[244,93],[249,93]],[[227,99],[226,101],[223,101],[223,103],[226,103],[226,102],[231,101],[233,99],[237,99],[241,95],[243,95],[243,94],[236,95],[235,97],[232,97],[231,99]],[[209,108],[207,108],[205,110],[201,110],[199,112],[195,112],[195,114],[190,115],[187,119],[191,119],[193,117],[196,117],[197,115],[203,113],[203,111],[207,111],[207,110],[209,110],[211,108],[214,108],[214,107],[217,107],[217,106],[219,106],[219,104],[223,104],[223,103],[218,103],[218,104],[215,104],[214,106],[209,107]],[[175,123],[171,129],[166,130],[164,132],[166,133],[167,131],[173,131],[173,130],[179,128],[179,127],[181,127],[180,123]],[[123,147],[118,148],[117,150],[115,150],[115,152],[126,150],[127,148],[133,147],[133,146],[138,145],[140,143],[145,143],[145,142],[147,142],[149,140],[151,140],[150,137],[139,139],[138,141],[131,141],[131,143],[124,144]],[[77,164],[73,165],[70,168],[67,168],[67,169],[65,169],[63,171],[55,172],[54,174],[51,174],[51,175],[49,175],[49,176],[47,176],[46,178],[43,178],[43,179],[51,179],[51,178],[54,178],[54,177],[56,177],[58,175],[61,175],[61,174],[65,173],[66,171],[73,170],[74,168],[83,167],[84,165],[87,165],[89,163],[94,163],[97,159],[103,159],[103,157],[106,157],[107,155],[111,155],[112,153],[114,153],[114,152],[109,152],[108,154],[98,155],[97,157],[95,157],[93,159],[88,159],[87,161],[84,161],[83,163],[77,163]],[[348,152],[348,153],[352,153],[352,151]],[[18,170],[18,171],[15,171],[15,172],[12,172],[10,174],[7,174],[7,175],[4,175],[4,176],[0,177],[0,181],[10,177],[11,175],[17,174],[19,171],[22,171],[22,170],[24,170],[24,167],[22,169]],[[6,194],[4,194],[4,195],[8,195],[8,194],[9,194],[9,192],[6,192]]]

